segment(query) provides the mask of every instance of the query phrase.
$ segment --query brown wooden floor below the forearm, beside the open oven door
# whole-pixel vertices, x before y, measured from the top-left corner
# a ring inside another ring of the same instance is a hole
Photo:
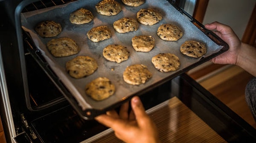
[[[245,86],[252,75],[240,67],[219,64],[210,64],[189,75],[256,128],[256,122],[244,97]]]

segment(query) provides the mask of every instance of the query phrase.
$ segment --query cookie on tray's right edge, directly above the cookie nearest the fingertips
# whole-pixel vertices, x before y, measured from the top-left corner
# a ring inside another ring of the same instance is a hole
[[[138,22],[143,25],[154,25],[160,20],[163,19],[162,14],[160,11],[157,11],[154,8],[142,8],[136,14]]]

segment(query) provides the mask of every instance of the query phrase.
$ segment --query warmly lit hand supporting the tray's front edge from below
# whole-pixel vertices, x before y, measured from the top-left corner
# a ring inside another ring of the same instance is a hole
[[[131,112],[128,113],[129,103],[121,106],[119,114],[108,111],[99,115],[96,121],[113,129],[116,137],[126,143],[160,143],[157,127],[146,114],[138,96],[131,99]]]

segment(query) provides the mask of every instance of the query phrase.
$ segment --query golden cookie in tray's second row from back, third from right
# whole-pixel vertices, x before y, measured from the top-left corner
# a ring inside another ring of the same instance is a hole
[[[99,26],[90,29],[90,31],[87,32],[87,37],[92,42],[100,42],[105,39],[111,38],[111,31],[107,26]]]

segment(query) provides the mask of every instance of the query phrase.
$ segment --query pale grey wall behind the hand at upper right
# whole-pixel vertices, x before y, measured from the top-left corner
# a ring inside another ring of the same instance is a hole
[[[231,28],[241,39],[256,0],[209,0],[203,24],[218,21]]]

